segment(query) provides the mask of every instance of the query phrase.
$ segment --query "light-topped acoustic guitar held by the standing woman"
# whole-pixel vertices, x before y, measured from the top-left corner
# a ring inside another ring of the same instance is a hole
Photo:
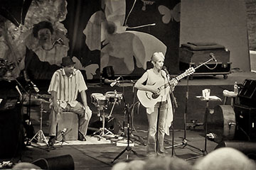
[[[190,74],[193,74],[194,72],[195,72],[195,69],[193,67],[186,69],[185,72],[183,72],[182,74],[170,80],[171,85],[174,85],[175,80],[179,81],[180,79],[183,79],[184,77]],[[161,85],[161,84],[158,84],[158,82],[156,82],[152,86],[158,87],[158,89],[160,90],[160,93],[154,94],[151,91],[142,91],[142,90],[137,91],[137,97],[139,98],[140,103],[142,103],[142,106],[144,106],[145,108],[150,108],[154,106],[157,103],[157,101],[159,101],[159,97],[164,95],[163,90],[169,86],[169,83]]]

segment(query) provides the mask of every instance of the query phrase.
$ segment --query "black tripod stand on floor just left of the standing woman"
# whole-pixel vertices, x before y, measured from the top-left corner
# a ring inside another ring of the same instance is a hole
[[[124,98],[124,96],[123,96]],[[129,104],[125,103],[125,100],[124,100],[124,114],[127,113],[127,147],[125,147],[122,152],[120,152],[119,154],[117,154],[117,157],[115,157],[111,163],[114,163],[114,161],[116,159],[118,159],[122,154],[124,154],[124,152],[132,152],[134,153],[137,157],[138,157],[138,154],[137,152],[135,152],[132,147],[129,146],[129,141],[130,141],[130,134],[129,134],[129,128],[130,128],[130,123],[129,123],[129,119],[130,119],[130,113],[129,113]],[[129,154],[127,154],[127,159],[129,158]]]

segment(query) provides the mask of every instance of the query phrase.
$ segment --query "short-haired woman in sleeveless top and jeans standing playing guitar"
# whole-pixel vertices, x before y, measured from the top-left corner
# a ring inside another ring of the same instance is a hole
[[[173,120],[170,93],[174,86],[168,84],[169,76],[162,70],[164,55],[162,52],[154,52],[151,57],[153,68],[148,69],[134,85],[138,89],[138,98],[146,107],[146,116],[149,123],[146,154],[148,157],[156,155],[164,156],[164,135],[169,135],[169,127]],[[144,82],[146,81],[146,84]]]

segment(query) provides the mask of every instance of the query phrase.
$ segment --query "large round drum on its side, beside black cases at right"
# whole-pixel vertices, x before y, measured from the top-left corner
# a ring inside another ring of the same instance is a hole
[[[215,135],[215,142],[223,140],[233,140],[235,136],[235,111],[230,105],[218,105],[214,108],[214,113],[207,114],[207,133]]]

